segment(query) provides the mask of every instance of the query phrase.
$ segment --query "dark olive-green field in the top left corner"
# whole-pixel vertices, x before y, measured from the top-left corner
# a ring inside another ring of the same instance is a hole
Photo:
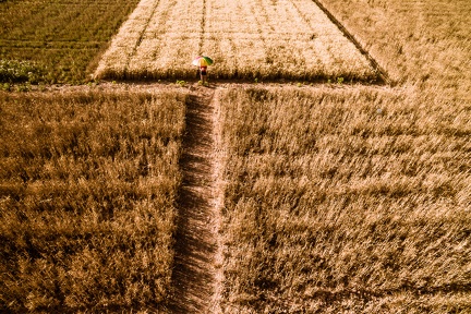
[[[0,63],[0,82],[89,81],[100,52],[137,2],[0,1],[0,60],[16,61]],[[25,73],[9,75],[8,69]]]

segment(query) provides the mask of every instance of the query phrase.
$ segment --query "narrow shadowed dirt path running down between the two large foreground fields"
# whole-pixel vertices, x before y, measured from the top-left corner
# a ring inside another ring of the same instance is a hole
[[[220,313],[217,108],[215,89],[193,87],[188,102],[181,167],[171,313]],[[217,97],[216,97],[217,98]]]

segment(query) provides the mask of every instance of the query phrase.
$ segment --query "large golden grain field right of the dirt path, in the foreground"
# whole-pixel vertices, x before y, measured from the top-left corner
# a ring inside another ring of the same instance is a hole
[[[410,92],[221,97],[226,313],[471,309],[471,112]]]

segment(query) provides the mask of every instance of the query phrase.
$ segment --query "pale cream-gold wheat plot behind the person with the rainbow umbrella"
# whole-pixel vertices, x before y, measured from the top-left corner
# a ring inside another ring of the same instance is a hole
[[[143,0],[96,77],[194,78],[191,61],[200,53],[215,60],[215,78],[377,78],[366,58],[310,0]]]

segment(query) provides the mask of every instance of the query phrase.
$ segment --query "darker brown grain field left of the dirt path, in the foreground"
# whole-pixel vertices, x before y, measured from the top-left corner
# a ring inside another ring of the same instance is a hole
[[[156,311],[185,95],[0,95],[0,311]]]

